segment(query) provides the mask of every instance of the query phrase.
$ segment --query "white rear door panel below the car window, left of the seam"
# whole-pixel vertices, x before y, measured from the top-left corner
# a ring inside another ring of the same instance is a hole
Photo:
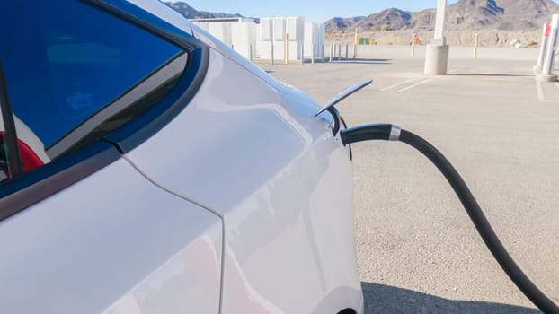
[[[0,313],[217,313],[221,231],[120,159],[0,222]]]

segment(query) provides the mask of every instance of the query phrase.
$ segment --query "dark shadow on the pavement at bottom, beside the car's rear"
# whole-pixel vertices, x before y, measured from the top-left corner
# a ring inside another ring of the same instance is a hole
[[[366,314],[542,314],[539,310],[483,301],[453,301],[377,283],[361,282]]]

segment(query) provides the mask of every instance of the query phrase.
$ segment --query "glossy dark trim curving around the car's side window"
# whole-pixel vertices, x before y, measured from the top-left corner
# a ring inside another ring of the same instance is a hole
[[[209,47],[194,39],[191,34],[124,0],[79,1],[111,13],[120,20],[183,48],[189,53],[186,70],[163,100],[101,141],[61,156],[36,170],[0,182],[0,222],[101,170],[119,160],[121,153],[127,153],[143,143],[187,106],[206,76]],[[145,22],[146,20],[150,22]]]

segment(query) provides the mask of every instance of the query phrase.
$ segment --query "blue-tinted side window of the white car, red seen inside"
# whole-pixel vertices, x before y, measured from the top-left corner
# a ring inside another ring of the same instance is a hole
[[[23,172],[162,99],[188,61],[173,43],[75,0],[1,2],[0,40]]]

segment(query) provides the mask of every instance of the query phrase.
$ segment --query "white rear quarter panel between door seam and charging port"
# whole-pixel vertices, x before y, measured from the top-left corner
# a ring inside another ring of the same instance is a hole
[[[222,313],[335,313],[362,301],[348,152],[315,103],[286,91],[211,49],[194,99],[127,155],[223,217]]]

